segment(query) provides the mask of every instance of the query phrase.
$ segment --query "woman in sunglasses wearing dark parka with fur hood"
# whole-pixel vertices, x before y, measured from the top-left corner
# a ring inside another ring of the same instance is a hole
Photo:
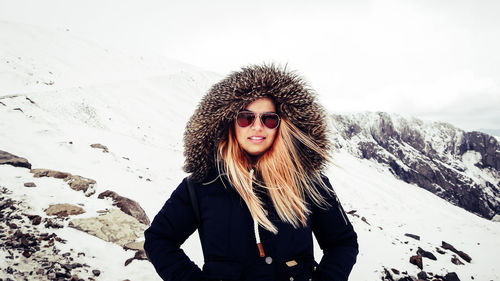
[[[298,76],[266,65],[232,73],[202,99],[184,143],[198,204],[184,179],[145,232],[164,280],[347,280],[357,236],[321,174],[326,115]],[[180,249],[196,229],[202,270]]]

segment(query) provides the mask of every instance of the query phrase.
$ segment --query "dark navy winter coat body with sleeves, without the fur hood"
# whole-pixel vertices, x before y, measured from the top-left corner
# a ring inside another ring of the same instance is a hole
[[[326,177],[323,180],[332,188]],[[163,280],[347,280],[358,254],[357,235],[336,197],[324,193],[331,204],[328,210],[308,201],[312,214],[307,227],[294,229],[279,219],[270,198],[262,195],[278,233],[259,227],[265,251],[265,257],[260,257],[250,212],[227,178],[194,186],[200,225],[184,179],[145,232],[144,249]],[[204,255],[202,270],[180,249],[197,228]],[[323,250],[319,264],[313,256],[312,233]],[[292,260],[296,264],[287,265]]]

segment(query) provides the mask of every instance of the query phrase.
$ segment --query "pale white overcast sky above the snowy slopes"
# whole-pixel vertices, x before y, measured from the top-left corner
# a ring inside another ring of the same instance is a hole
[[[275,62],[335,112],[500,129],[500,1],[0,0],[0,19],[226,75]]]

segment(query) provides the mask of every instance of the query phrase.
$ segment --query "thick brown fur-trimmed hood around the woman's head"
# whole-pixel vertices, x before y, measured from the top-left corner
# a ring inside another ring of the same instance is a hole
[[[273,99],[280,116],[287,116],[319,147],[329,149],[326,113],[314,91],[286,68],[254,65],[213,85],[199,103],[184,132],[184,171],[199,181],[214,173],[217,145],[225,130],[239,111],[261,97]],[[308,172],[318,172],[326,164],[327,159],[310,149],[306,149],[305,155],[309,156]]]

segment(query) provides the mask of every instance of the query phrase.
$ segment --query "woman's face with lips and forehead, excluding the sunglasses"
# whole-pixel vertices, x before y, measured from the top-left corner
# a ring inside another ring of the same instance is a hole
[[[234,129],[236,132],[236,139],[240,147],[251,156],[261,156],[266,152],[274,142],[278,128],[269,129],[260,119],[260,114],[265,112],[276,112],[274,103],[269,98],[260,98],[250,103],[245,111],[255,113],[256,118],[253,124],[248,127],[240,127],[235,122]]]

